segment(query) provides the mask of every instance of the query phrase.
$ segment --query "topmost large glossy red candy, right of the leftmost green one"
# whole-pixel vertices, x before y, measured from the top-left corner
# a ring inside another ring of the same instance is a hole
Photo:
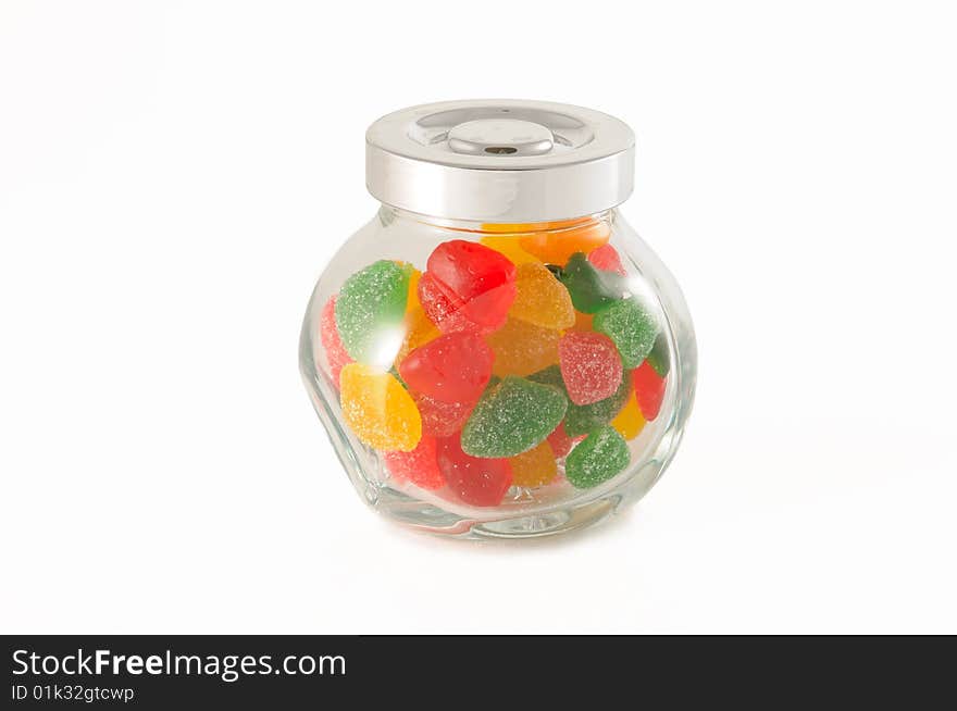
[[[478,242],[452,239],[428,257],[419,300],[443,333],[492,333],[515,300],[515,265]]]

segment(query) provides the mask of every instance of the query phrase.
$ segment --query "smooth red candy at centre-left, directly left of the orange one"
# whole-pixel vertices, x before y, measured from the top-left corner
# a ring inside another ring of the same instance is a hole
[[[439,336],[409,353],[399,374],[417,392],[443,402],[474,402],[492,376],[492,349],[481,336]]]

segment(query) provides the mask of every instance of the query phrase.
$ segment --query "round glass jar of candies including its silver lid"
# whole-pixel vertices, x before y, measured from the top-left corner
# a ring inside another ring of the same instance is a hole
[[[456,101],[370,127],[382,208],[320,277],[300,367],[371,507],[542,536],[658,479],[696,350],[678,284],[617,210],[633,173],[631,129],[579,107]]]

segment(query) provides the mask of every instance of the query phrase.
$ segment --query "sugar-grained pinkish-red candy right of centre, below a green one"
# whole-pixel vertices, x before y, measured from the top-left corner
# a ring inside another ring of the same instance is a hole
[[[558,341],[558,358],[566,392],[575,404],[610,398],[621,385],[621,358],[608,336],[569,332]]]

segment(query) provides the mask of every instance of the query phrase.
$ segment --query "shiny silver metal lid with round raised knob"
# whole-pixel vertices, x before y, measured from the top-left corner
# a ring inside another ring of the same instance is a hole
[[[445,101],[383,116],[365,134],[365,184],[385,204],[478,222],[568,220],[624,202],[635,137],[564,103]]]

